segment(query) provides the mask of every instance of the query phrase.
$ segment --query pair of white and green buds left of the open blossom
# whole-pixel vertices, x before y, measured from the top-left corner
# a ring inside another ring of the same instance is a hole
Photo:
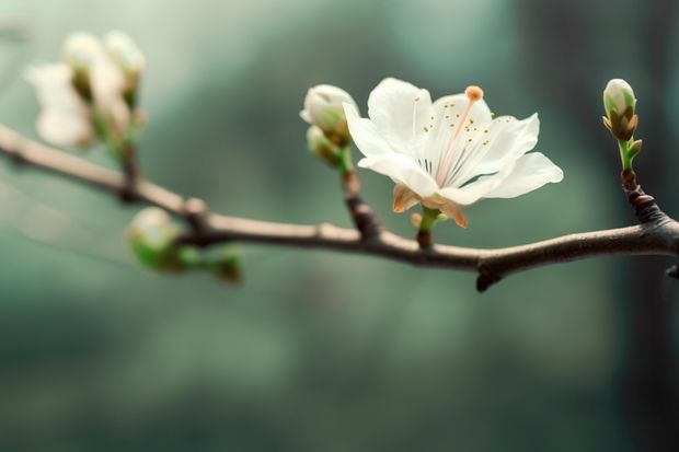
[[[299,114],[310,126],[307,131],[309,150],[333,167],[347,164],[345,150],[352,142],[344,103],[356,106],[346,91],[330,84],[319,84],[309,89],[304,109]]]

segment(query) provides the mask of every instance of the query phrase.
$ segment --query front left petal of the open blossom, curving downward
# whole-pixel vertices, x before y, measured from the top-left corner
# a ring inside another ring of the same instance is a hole
[[[421,197],[436,193],[436,181],[426,173],[413,158],[399,153],[362,159],[358,166],[370,169],[391,177],[396,184],[405,185]]]

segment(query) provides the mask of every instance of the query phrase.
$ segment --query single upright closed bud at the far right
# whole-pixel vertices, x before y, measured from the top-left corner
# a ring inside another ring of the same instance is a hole
[[[613,79],[603,90],[603,125],[618,140],[628,141],[634,135],[638,117],[634,114],[636,97],[628,82]]]

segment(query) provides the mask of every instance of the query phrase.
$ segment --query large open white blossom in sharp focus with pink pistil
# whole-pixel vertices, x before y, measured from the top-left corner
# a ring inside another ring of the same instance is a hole
[[[421,202],[465,227],[463,206],[513,198],[563,178],[546,157],[527,153],[538,141],[538,115],[493,119],[477,86],[431,103],[427,90],[385,79],[370,93],[369,119],[349,103],[344,111],[365,155],[358,165],[396,184],[395,212]]]

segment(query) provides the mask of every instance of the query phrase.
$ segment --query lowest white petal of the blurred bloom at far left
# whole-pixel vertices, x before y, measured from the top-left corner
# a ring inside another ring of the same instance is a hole
[[[37,117],[36,128],[45,141],[55,146],[82,144],[94,135],[87,117],[55,109],[43,111]]]

